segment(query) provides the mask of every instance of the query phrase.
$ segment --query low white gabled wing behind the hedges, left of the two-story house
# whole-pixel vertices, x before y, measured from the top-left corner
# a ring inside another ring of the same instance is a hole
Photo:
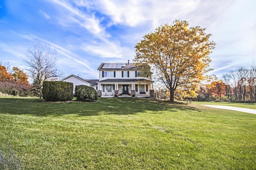
[[[99,80],[84,80],[78,76],[75,76],[74,74],[71,74],[65,78],[63,78],[60,81],[64,81],[64,82],[71,82],[74,85],[74,90],[73,90],[73,94],[75,93],[75,87],[77,85],[86,85],[86,86],[91,86],[93,87],[95,90],[98,90],[98,86],[97,86],[97,82]]]

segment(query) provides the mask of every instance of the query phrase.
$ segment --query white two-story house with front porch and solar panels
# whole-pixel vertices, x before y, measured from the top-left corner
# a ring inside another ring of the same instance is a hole
[[[150,66],[136,63],[102,63],[98,67],[99,96],[154,95]]]

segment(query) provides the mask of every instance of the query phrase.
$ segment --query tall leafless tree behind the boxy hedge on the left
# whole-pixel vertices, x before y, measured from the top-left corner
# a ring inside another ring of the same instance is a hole
[[[50,45],[36,43],[34,47],[27,49],[26,57],[23,58],[23,64],[27,66],[28,75],[37,83],[36,88],[42,98],[42,86],[44,81],[56,80],[62,75],[62,72],[56,66],[58,52]]]

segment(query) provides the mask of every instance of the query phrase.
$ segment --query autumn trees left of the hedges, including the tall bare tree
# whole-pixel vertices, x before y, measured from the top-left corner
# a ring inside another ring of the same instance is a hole
[[[22,58],[25,73],[14,66],[9,69],[9,63],[0,63],[0,92],[11,95],[39,96],[42,97],[44,81],[56,80],[62,72],[56,66],[58,52],[50,45],[37,42],[34,47],[27,49],[26,56]],[[10,71],[9,71],[10,70]],[[28,78],[32,80],[30,85]]]

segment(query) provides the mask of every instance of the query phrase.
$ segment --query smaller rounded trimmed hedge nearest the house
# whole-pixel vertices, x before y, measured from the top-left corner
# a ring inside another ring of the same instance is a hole
[[[75,94],[77,100],[97,101],[98,93],[90,86],[78,85],[75,87]]]

